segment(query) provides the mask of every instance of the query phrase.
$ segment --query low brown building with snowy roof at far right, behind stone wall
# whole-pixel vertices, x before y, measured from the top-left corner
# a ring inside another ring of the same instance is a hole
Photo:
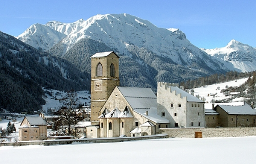
[[[234,105],[234,103],[232,103]],[[256,127],[256,110],[242,102],[232,106],[218,104],[215,110],[219,113],[221,127]]]

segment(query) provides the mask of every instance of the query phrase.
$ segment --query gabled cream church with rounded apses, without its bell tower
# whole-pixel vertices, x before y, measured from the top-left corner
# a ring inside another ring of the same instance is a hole
[[[100,113],[100,137],[152,135],[169,124],[157,115],[157,98],[150,88],[115,87]]]

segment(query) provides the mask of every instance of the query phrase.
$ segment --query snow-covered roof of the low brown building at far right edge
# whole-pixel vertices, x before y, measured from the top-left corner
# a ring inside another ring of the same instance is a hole
[[[230,106],[230,105],[218,105],[228,114],[242,114],[242,115],[256,115],[256,110],[254,110],[249,104],[244,103],[242,106]]]

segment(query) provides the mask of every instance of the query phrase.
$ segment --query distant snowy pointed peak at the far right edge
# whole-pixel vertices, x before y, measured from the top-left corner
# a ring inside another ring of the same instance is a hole
[[[256,70],[256,49],[236,40],[231,40],[226,47],[203,49],[207,54],[227,61],[242,72]]]

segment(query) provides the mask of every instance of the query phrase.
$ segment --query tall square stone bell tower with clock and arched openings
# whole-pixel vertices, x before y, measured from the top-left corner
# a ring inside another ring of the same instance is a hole
[[[101,108],[119,86],[119,58],[114,51],[91,56],[91,125],[99,125]]]

